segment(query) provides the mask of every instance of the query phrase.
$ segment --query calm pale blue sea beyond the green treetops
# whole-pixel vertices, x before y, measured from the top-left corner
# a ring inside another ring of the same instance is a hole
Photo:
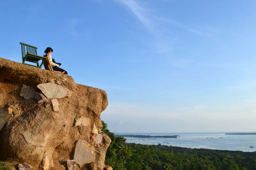
[[[179,138],[137,138],[124,137],[126,143],[143,145],[167,145],[184,148],[206,148],[212,150],[232,150],[256,152],[255,134],[226,134],[230,132],[193,132],[193,133],[115,133],[118,135],[149,135],[170,136],[179,135]],[[233,132],[232,132],[233,133]]]

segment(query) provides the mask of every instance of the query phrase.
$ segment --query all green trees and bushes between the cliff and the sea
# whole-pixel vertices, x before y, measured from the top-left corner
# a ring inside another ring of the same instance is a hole
[[[105,164],[113,169],[256,169],[256,152],[128,144],[102,125],[112,140]]]

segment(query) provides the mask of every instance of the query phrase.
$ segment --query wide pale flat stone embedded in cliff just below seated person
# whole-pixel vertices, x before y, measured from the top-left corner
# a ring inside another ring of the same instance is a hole
[[[42,93],[48,98],[63,98],[68,96],[68,92],[66,89],[61,87],[61,85],[57,85],[55,83],[42,83],[37,85],[38,89],[42,91]]]

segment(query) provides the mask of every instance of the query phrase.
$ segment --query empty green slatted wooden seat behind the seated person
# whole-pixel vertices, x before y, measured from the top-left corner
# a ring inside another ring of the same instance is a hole
[[[29,66],[39,67],[41,68],[44,64],[45,57],[37,55],[37,47],[32,45],[27,45],[25,43],[20,43],[21,45],[21,54],[22,54],[22,64],[27,64]],[[39,63],[42,60],[41,64]],[[36,64],[28,64],[25,62],[33,62]]]

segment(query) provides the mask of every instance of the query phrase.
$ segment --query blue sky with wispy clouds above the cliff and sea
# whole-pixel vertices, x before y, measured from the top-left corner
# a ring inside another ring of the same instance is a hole
[[[106,90],[113,132],[256,131],[256,1],[0,1],[0,57],[38,46]]]

